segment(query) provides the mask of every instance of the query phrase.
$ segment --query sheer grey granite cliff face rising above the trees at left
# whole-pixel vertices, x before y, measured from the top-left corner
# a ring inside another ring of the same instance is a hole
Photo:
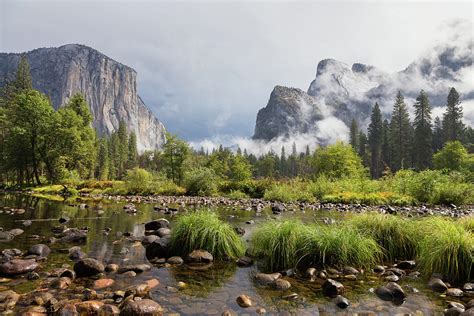
[[[0,53],[0,85],[16,74],[21,54]],[[165,127],[137,94],[137,73],[97,50],[78,44],[39,48],[26,53],[33,87],[58,109],[76,92],[90,105],[99,134],[110,134],[123,120],[137,135],[140,151],[159,148]]]

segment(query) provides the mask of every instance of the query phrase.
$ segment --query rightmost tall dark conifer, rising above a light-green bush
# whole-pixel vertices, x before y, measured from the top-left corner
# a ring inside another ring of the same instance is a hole
[[[462,139],[465,128],[462,122],[462,116],[463,113],[459,94],[456,89],[451,88],[448,94],[446,112],[443,115],[444,143]]]

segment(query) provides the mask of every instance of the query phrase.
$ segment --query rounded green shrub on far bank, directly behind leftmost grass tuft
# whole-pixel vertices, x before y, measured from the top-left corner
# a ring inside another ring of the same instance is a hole
[[[210,168],[195,168],[186,173],[185,186],[189,195],[212,196],[217,194],[218,178]]]

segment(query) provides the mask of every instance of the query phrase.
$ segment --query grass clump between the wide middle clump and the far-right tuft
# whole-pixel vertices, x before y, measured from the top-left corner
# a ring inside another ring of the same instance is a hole
[[[382,248],[385,260],[413,259],[419,232],[415,222],[395,215],[365,213],[353,215],[346,223],[372,237]]]

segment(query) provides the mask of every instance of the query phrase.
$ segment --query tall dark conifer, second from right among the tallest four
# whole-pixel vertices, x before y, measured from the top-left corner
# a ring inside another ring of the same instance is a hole
[[[433,134],[431,131],[431,106],[426,93],[421,90],[414,104],[415,119],[413,121],[414,140],[413,157],[414,166],[424,170],[431,166],[433,156]]]

